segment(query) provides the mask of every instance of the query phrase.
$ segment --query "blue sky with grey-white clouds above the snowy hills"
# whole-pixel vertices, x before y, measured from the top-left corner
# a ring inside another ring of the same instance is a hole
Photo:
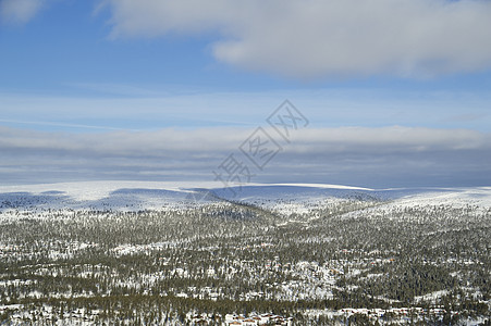
[[[0,185],[491,186],[489,17],[489,0],[0,0]]]

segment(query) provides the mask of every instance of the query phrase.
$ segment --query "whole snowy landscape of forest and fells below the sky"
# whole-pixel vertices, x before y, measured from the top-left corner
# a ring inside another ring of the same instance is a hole
[[[1,187],[0,321],[479,325],[491,302],[490,198],[491,188]]]

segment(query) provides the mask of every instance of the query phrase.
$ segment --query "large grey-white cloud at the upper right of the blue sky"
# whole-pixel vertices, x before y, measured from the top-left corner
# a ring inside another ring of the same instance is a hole
[[[491,67],[487,0],[105,0],[113,37],[218,33],[232,65],[310,78]]]

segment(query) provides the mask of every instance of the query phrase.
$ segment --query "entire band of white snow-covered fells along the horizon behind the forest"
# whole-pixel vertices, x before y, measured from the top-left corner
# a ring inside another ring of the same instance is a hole
[[[0,186],[0,214],[12,210],[168,210],[220,200],[251,203],[285,214],[305,213],[312,208],[344,200],[398,205],[471,204],[491,208],[491,187],[368,189],[318,184],[220,186],[220,183],[157,181]]]

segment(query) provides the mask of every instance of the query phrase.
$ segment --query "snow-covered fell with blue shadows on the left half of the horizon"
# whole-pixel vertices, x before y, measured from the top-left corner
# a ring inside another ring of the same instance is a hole
[[[161,210],[195,201],[196,184],[151,181],[86,181],[27,186],[0,186],[0,212],[39,210]],[[200,184],[210,187],[213,184]],[[202,199],[206,202],[207,198]]]

